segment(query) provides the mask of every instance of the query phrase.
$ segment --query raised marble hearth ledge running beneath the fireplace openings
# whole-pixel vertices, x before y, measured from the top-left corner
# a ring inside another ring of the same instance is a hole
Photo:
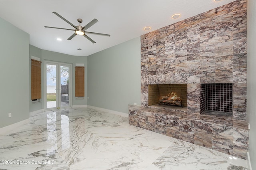
[[[246,159],[249,130],[245,121],[218,114],[189,115],[179,107],[128,108],[130,125]]]

